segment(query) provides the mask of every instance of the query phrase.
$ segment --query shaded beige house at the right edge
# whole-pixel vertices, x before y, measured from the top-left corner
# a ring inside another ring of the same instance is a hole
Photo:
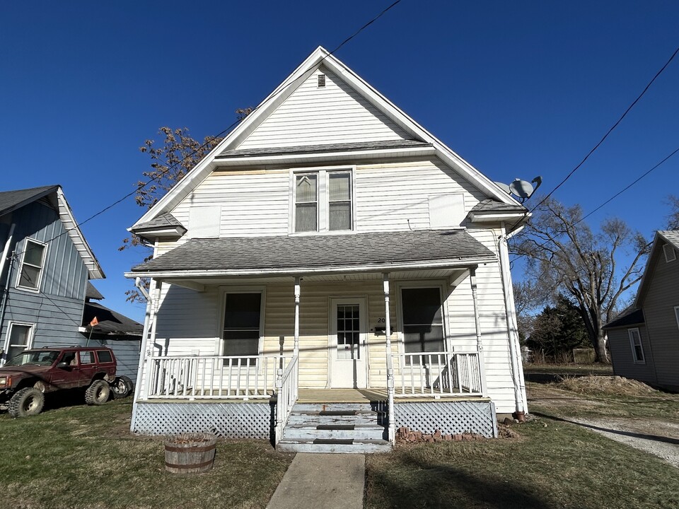
[[[605,325],[613,372],[679,391],[679,230],[656,232],[634,303]]]

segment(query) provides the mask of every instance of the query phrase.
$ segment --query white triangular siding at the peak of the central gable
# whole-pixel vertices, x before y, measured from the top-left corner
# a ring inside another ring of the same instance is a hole
[[[318,87],[318,74],[325,86]],[[408,139],[405,131],[330,72],[316,71],[239,149]]]

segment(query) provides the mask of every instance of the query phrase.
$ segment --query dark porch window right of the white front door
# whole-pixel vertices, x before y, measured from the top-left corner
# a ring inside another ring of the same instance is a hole
[[[401,288],[401,312],[405,353],[445,351],[441,288]]]

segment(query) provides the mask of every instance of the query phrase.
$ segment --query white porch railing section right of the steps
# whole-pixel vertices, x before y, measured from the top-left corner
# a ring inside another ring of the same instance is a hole
[[[477,351],[402,353],[395,396],[482,396]]]

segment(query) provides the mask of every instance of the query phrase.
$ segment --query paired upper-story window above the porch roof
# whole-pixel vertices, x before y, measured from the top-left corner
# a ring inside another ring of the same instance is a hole
[[[296,233],[354,229],[351,170],[294,173]]]

